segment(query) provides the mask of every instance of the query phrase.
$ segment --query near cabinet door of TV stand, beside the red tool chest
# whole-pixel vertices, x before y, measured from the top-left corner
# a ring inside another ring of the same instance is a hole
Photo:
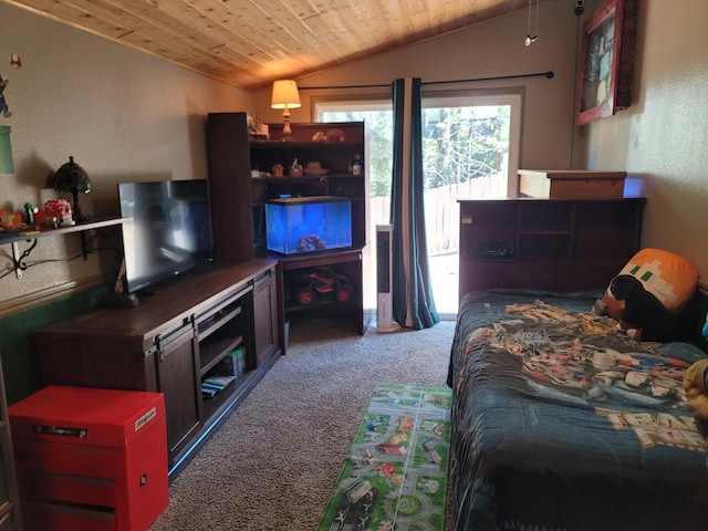
[[[167,446],[171,465],[189,447],[201,426],[199,351],[191,327],[167,337],[158,336],[156,343],[158,387],[165,394]]]

